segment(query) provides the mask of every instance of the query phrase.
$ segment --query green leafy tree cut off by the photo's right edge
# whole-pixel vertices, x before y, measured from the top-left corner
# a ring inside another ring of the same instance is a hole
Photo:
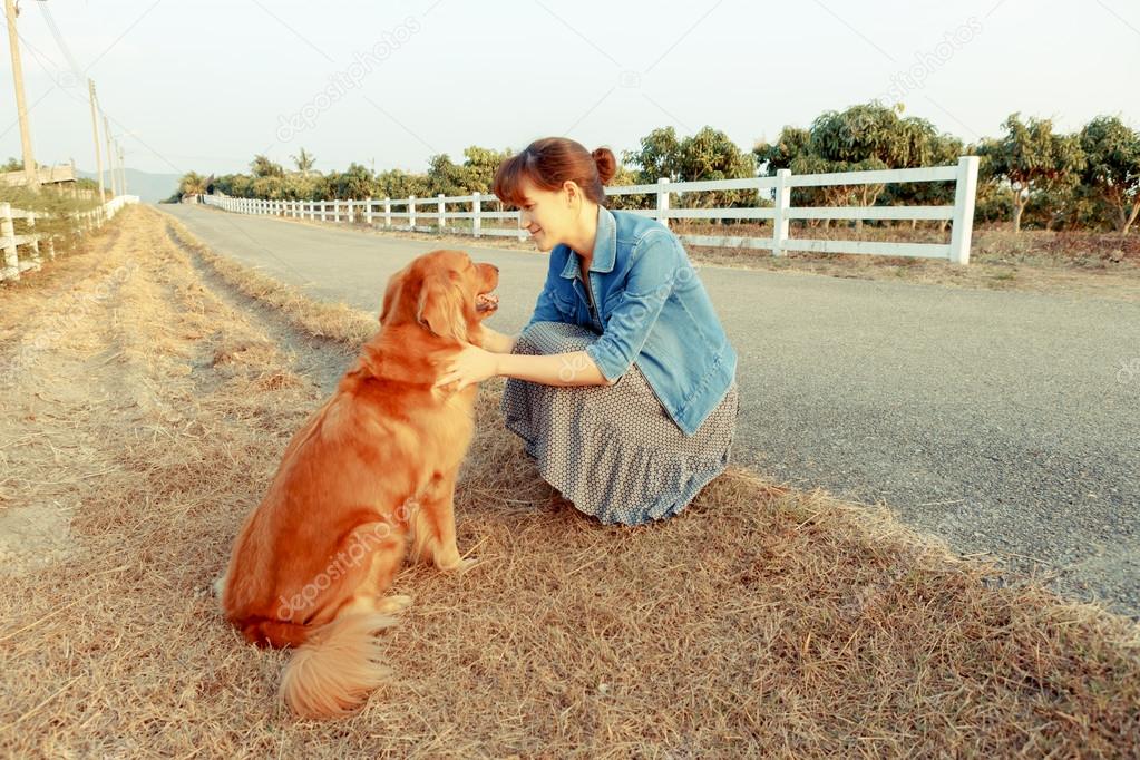
[[[1140,215],[1140,132],[1116,116],[1100,116],[1081,130],[1083,185],[1110,212],[1115,229],[1127,235]]]

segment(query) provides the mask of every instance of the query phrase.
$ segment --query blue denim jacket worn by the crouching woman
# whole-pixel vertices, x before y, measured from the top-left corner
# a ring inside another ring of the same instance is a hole
[[[602,375],[614,381],[636,361],[669,417],[692,435],[735,379],[736,352],[681,240],[656,219],[598,206],[588,271],[596,318],[581,260],[556,245],[527,327],[561,321],[600,334],[586,353]]]

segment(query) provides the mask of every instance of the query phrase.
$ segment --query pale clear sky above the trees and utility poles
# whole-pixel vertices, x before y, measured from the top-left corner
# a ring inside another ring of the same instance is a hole
[[[969,141],[1007,115],[1140,126],[1134,0],[23,0],[41,163],[95,167],[84,77],[132,169],[423,171],[548,134],[632,149],[708,124],[741,148],[881,98]],[[48,13],[44,13],[47,6]],[[63,49],[57,41],[63,40]],[[66,52],[65,50],[66,49]],[[19,156],[2,56],[0,157]]]

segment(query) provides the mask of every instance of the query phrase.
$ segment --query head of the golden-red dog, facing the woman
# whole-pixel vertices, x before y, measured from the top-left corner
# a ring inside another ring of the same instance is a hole
[[[415,322],[440,337],[475,343],[479,324],[498,309],[498,267],[463,251],[432,251],[392,275],[380,324]]]

